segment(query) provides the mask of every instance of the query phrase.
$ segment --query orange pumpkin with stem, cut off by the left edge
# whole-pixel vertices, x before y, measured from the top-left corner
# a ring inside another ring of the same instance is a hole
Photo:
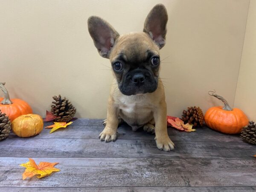
[[[0,110],[9,116],[12,122],[20,115],[33,113],[29,104],[21,99],[10,99],[9,93],[4,87],[5,83],[0,83],[0,89],[3,91],[4,98],[0,98]]]

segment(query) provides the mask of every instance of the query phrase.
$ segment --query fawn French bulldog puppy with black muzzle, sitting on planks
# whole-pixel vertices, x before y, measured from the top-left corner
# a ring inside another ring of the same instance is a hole
[[[99,54],[110,60],[115,76],[100,140],[116,140],[118,125],[125,121],[133,131],[143,127],[155,133],[160,150],[174,149],[167,134],[165,93],[159,77],[159,50],[165,45],[167,20],[165,6],[157,4],[148,14],[143,32],[119,35],[102,18],[89,17],[90,36]]]

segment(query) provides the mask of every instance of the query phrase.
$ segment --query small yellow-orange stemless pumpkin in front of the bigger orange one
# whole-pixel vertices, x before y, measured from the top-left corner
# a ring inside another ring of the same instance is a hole
[[[32,137],[44,128],[44,120],[40,115],[26,114],[14,119],[11,124],[12,132],[19,137]]]

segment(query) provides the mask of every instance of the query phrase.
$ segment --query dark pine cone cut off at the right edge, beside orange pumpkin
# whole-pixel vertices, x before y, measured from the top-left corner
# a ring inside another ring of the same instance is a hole
[[[240,137],[245,142],[256,145],[256,124],[253,121],[249,122],[249,125],[242,128]]]

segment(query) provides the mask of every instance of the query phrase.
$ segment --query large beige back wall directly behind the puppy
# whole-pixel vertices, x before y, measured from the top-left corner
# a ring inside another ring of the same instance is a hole
[[[210,89],[233,104],[249,0],[1,0],[0,81],[43,116],[61,94],[77,117],[104,118],[112,73],[87,18],[101,16],[121,34],[140,31],[157,3],[169,14],[161,50],[169,115],[220,104]]]

